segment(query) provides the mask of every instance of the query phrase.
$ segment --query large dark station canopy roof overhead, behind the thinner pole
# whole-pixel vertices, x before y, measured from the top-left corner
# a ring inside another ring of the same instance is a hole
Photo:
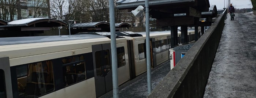
[[[199,24],[201,12],[209,11],[209,0],[149,0],[149,15],[156,18],[157,26],[192,26]],[[118,9],[131,12],[145,0],[119,0]]]

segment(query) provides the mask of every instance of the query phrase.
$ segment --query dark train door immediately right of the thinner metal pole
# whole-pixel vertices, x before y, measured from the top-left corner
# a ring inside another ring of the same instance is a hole
[[[156,55],[155,55],[155,38],[150,38],[150,54],[151,54],[151,68],[156,67]]]

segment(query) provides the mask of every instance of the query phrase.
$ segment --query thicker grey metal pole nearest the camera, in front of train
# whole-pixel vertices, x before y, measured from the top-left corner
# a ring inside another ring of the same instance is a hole
[[[111,38],[111,57],[112,57],[112,81],[113,81],[113,97],[119,98],[118,80],[117,80],[117,54],[116,54],[116,33],[115,33],[115,10],[114,0],[109,0],[110,4],[110,38]]]

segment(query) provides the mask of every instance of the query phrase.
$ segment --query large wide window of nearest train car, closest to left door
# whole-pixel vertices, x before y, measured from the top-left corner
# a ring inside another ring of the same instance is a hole
[[[20,97],[38,97],[54,90],[52,61],[42,61],[16,67]]]

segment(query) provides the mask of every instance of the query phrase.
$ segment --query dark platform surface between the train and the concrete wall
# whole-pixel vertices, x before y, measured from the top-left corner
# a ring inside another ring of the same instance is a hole
[[[151,71],[152,90],[170,71],[170,60],[160,64]],[[148,96],[146,72],[119,86],[119,98],[146,98]],[[100,98],[113,98],[113,91]]]

